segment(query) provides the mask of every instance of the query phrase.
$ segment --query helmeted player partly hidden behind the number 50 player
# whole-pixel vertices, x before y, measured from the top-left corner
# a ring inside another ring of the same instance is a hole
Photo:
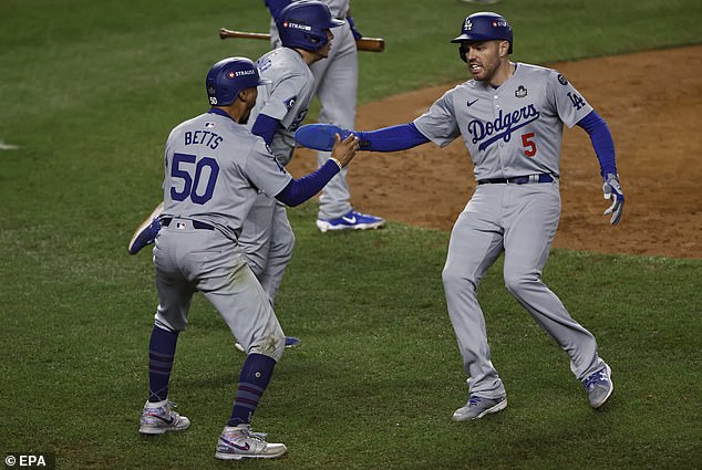
[[[304,121],[314,93],[310,65],[330,54],[335,44],[331,29],[338,29],[343,21],[332,18],[326,3],[313,0],[289,4],[278,12],[278,19],[282,46],[266,53],[256,63],[269,83],[259,88],[249,127],[266,140],[278,161],[287,166],[295,150],[295,130]],[[157,207],[136,230],[130,253],[153,242],[162,209],[163,206]],[[272,305],[295,247],[285,205],[259,191],[244,222],[238,246]],[[288,346],[298,343],[296,337],[286,338]],[[237,348],[242,349],[239,343]]]

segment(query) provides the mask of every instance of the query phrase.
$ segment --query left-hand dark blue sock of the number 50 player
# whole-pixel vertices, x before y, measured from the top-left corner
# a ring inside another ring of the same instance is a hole
[[[148,343],[148,401],[168,398],[168,380],[178,334],[154,325]]]

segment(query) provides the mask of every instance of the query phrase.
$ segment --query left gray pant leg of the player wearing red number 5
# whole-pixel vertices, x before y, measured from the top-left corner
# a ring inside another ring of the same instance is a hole
[[[482,189],[482,188],[481,188]],[[458,216],[451,232],[448,254],[442,273],[448,316],[472,394],[486,398],[505,395],[491,361],[485,318],[477,302],[477,288],[487,269],[502,253],[502,229],[493,220],[498,195],[476,191]]]

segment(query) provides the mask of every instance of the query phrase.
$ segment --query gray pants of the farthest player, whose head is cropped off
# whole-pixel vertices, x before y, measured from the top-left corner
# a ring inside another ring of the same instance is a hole
[[[319,122],[353,129],[359,84],[358,50],[348,23],[332,29],[332,32],[334,40],[330,56],[310,66],[320,103]],[[324,165],[330,155],[329,152],[318,153],[319,166]],[[322,189],[319,198],[320,219],[337,219],[351,211],[347,173],[344,168]]]

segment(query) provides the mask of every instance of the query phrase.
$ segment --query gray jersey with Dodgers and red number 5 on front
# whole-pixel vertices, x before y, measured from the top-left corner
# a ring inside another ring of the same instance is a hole
[[[558,72],[520,63],[498,90],[474,80],[450,90],[414,124],[440,146],[463,135],[477,180],[559,176],[562,124],[591,111]]]

